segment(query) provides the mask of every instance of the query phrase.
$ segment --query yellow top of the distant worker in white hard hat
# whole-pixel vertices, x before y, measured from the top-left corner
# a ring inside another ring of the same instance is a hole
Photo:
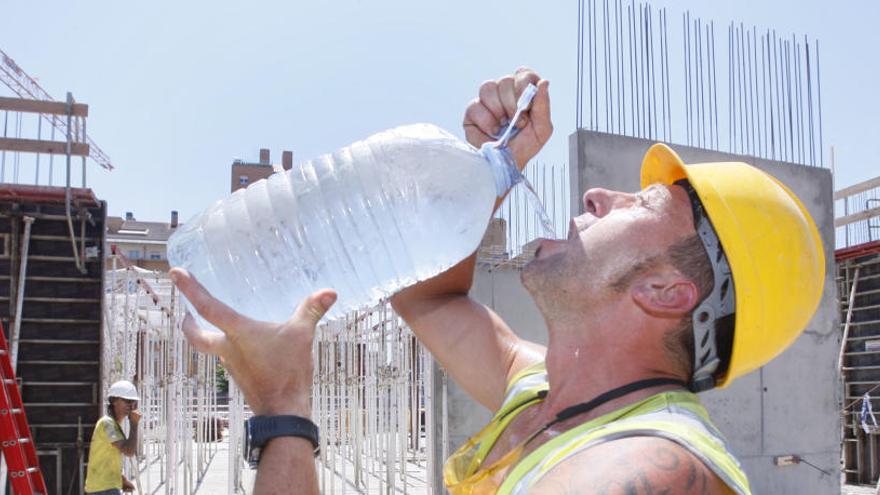
[[[86,493],[122,489],[122,452],[113,446],[122,440],[125,440],[122,427],[110,416],[102,417],[95,424],[89,444]]]

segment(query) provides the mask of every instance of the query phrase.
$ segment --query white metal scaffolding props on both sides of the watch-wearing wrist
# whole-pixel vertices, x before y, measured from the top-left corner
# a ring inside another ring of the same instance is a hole
[[[218,360],[180,330],[180,296],[167,273],[114,254],[106,271],[104,383],[133,381],[141,396],[141,445],[126,466],[139,493],[195,493],[228,442],[227,493],[249,492],[243,452],[251,411],[235,383],[217,392]],[[428,423],[435,377],[430,355],[383,302],[319,327],[313,417],[321,429],[322,493],[426,493],[436,440]],[[102,397],[106,403],[106,397]],[[445,445],[445,437],[440,441]],[[130,475],[130,476],[129,476]]]

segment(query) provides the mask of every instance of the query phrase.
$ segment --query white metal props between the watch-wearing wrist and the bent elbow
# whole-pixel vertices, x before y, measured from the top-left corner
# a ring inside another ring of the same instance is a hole
[[[314,356],[322,493],[426,493],[446,439],[428,426],[435,374],[409,327],[382,302],[324,325]]]

